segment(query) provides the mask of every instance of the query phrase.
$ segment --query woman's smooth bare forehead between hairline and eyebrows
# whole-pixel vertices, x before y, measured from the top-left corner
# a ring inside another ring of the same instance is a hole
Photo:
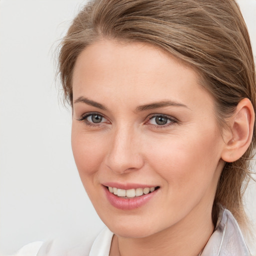
[[[194,69],[163,50],[142,42],[102,40],[77,58],[73,96],[134,101],[168,100],[194,103],[209,93],[198,83]],[[188,102],[189,101],[189,102]],[[144,102],[140,102],[144,103]]]

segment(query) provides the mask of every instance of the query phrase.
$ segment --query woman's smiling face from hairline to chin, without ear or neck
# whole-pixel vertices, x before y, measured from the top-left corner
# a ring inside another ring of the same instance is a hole
[[[110,40],[83,50],[71,140],[87,194],[114,233],[145,237],[210,215],[224,147],[213,99],[162,50]]]

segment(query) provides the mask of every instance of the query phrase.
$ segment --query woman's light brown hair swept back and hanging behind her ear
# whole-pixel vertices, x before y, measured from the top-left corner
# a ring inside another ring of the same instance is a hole
[[[161,48],[194,68],[200,83],[215,99],[219,127],[242,98],[256,109],[255,67],[246,24],[234,0],[94,0],[73,19],[60,43],[59,75],[64,99],[72,106],[72,73],[77,56],[102,39],[142,41]],[[241,158],[226,162],[212,206],[220,205],[246,225],[242,196],[253,157],[250,146]]]

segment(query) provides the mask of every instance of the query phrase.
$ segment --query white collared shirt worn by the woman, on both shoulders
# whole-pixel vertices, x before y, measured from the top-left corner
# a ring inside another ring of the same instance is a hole
[[[56,250],[52,242],[30,243],[22,247],[15,256],[108,256],[113,233],[105,227],[92,246],[83,244],[65,252]],[[222,209],[216,227],[205,245],[201,256],[250,256],[240,228],[231,212]]]

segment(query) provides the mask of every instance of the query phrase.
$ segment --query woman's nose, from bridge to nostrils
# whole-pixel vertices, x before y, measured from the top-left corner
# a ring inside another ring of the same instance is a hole
[[[111,136],[105,164],[118,174],[138,170],[144,164],[140,148],[139,134],[132,128],[120,127]]]

